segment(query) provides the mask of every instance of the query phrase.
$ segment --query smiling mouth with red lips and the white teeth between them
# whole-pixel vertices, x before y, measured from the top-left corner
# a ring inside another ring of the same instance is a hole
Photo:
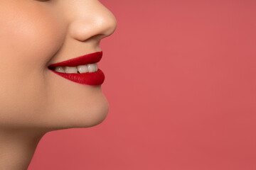
[[[82,55],[70,60],[50,64],[48,69],[78,84],[86,84],[90,86],[98,86],[103,84],[105,75],[102,70],[98,69],[97,62],[102,58],[102,51]]]

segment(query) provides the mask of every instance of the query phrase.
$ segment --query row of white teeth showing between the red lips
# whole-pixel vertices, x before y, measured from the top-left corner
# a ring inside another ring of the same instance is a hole
[[[86,73],[86,72],[97,72],[98,67],[97,63],[80,65],[78,67],[55,67],[55,72],[63,73]]]

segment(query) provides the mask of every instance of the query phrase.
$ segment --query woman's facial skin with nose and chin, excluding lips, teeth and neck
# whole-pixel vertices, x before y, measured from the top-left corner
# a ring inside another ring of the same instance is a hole
[[[1,0],[0,126],[101,123],[109,110],[101,86],[75,83],[48,66],[102,51],[100,40],[116,26],[97,0]]]

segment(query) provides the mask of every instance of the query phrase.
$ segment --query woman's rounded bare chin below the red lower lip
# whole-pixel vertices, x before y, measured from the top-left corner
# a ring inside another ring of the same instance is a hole
[[[107,99],[102,95],[91,103],[73,103],[61,109],[52,109],[48,118],[41,123],[51,130],[89,128],[102,123],[109,108]]]

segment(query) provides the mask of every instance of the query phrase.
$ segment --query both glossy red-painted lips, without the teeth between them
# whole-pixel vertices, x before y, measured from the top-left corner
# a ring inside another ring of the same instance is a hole
[[[100,84],[103,84],[105,80],[105,75],[100,69],[98,69],[97,72],[86,72],[81,74],[55,72],[53,69],[54,67],[76,67],[79,65],[92,64],[100,62],[101,58],[102,52],[95,52],[89,55],[82,55],[74,59],[66,60],[64,62],[50,64],[48,66],[48,69],[50,69],[50,71],[54,72],[55,74],[58,74],[60,77],[64,77],[65,79],[74,81],[78,84],[98,86]]]

